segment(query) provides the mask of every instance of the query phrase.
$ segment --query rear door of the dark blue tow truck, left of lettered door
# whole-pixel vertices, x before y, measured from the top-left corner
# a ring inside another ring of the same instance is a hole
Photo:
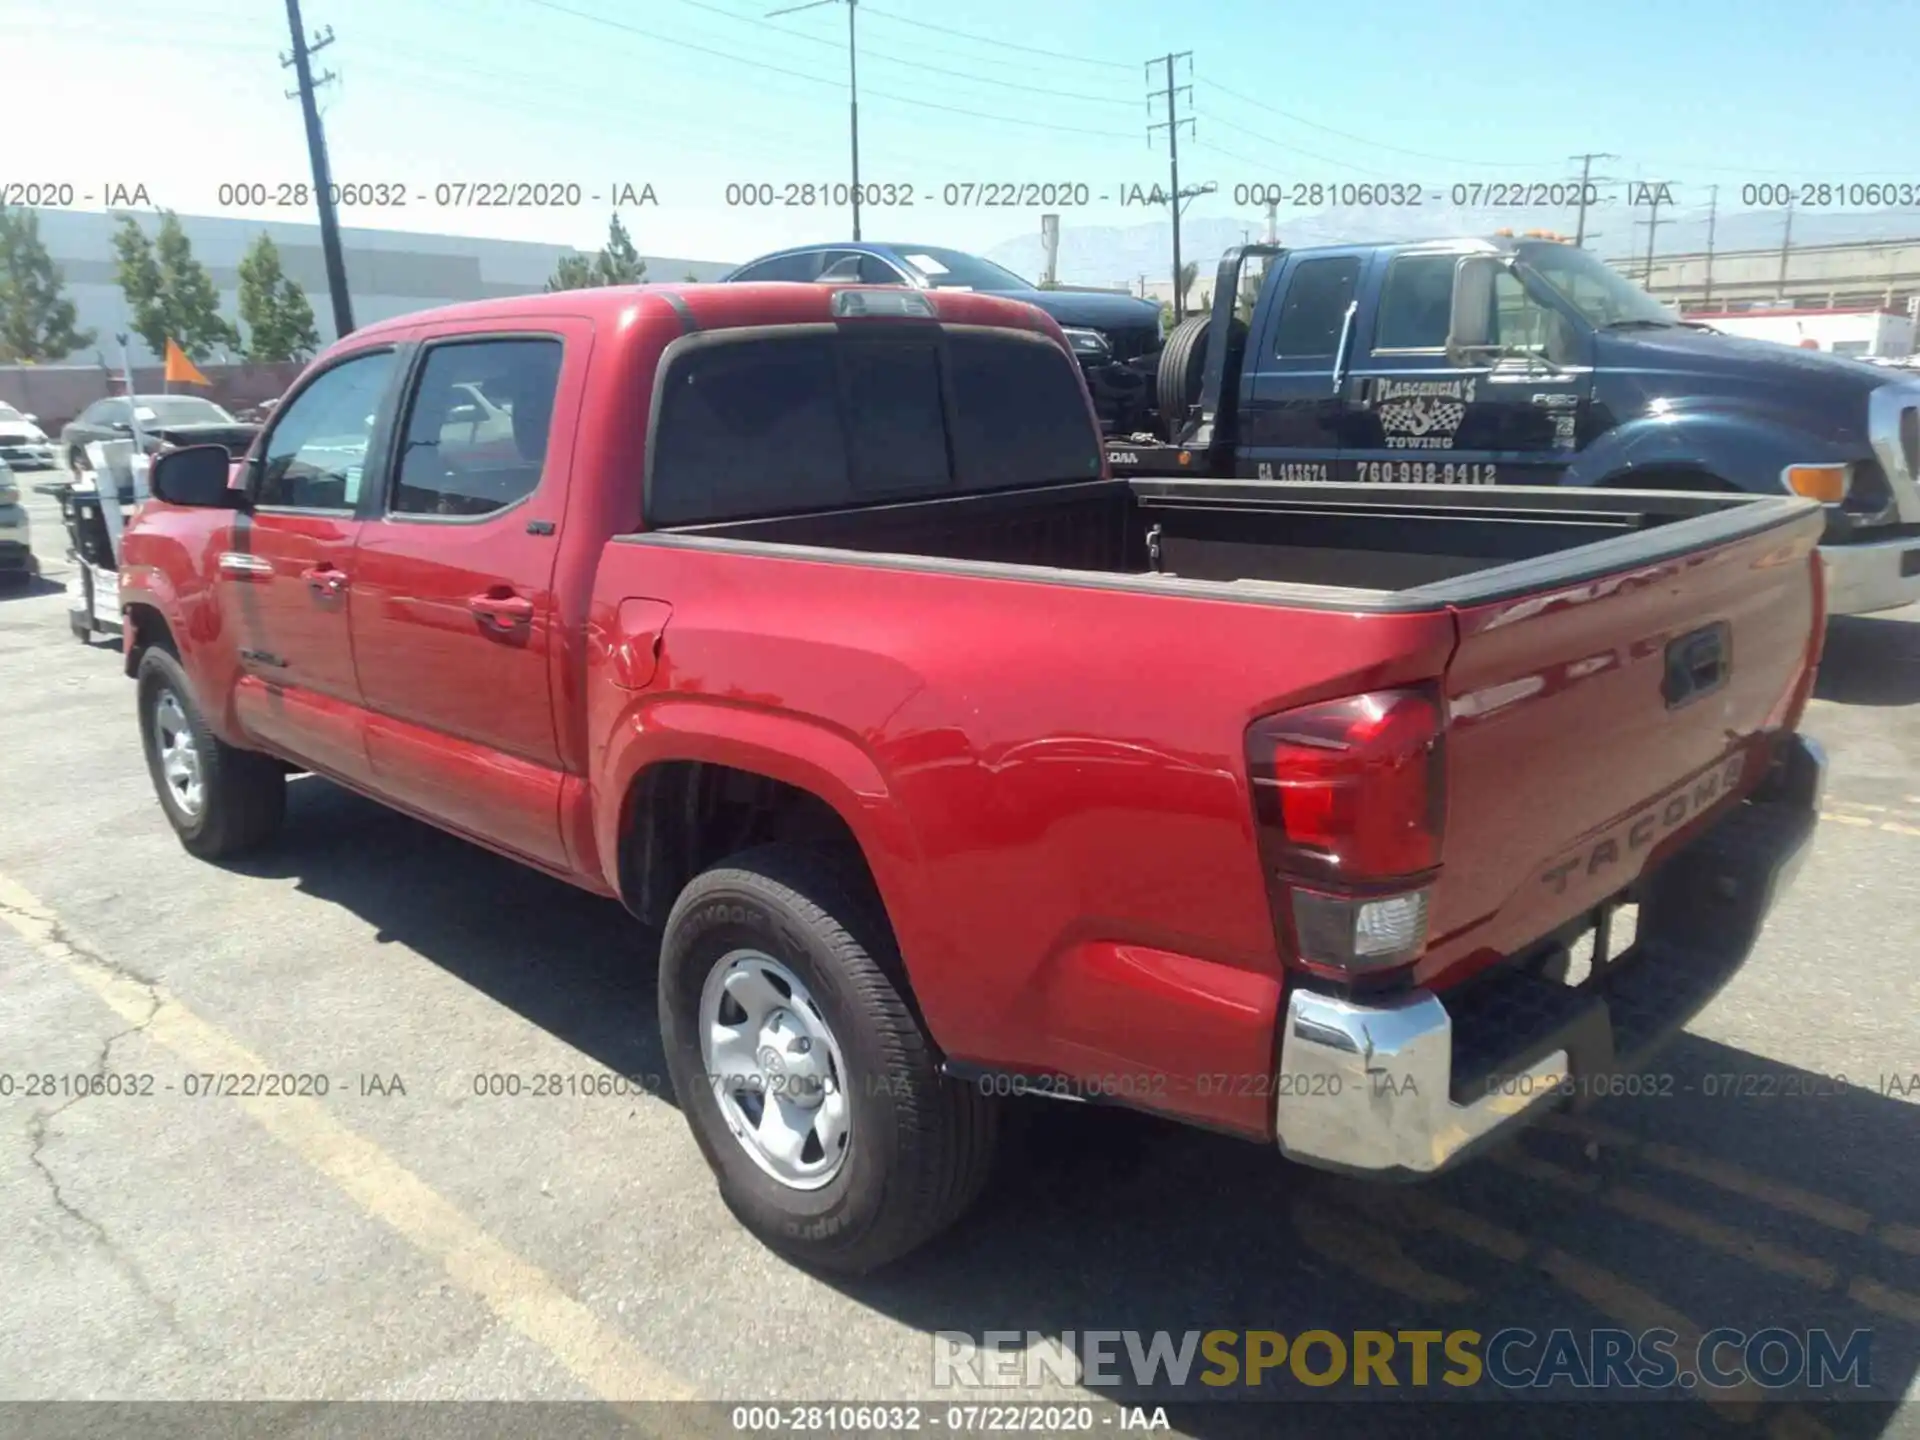
[[[1240,369],[1238,472],[1332,480],[1340,459],[1340,344],[1352,346],[1365,252],[1296,255]],[[1352,359],[1348,353],[1344,359]]]

